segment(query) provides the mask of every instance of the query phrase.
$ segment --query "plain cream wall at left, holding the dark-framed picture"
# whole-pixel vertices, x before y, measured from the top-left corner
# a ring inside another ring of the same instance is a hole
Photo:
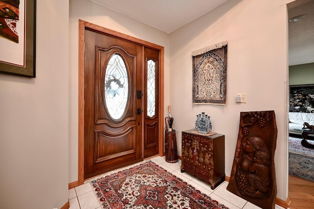
[[[69,2],[37,0],[36,78],[0,74],[0,208],[68,201]]]

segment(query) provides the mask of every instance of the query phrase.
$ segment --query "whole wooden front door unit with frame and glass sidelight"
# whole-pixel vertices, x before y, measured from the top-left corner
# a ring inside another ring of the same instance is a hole
[[[163,156],[163,47],[84,21],[80,37],[82,184],[143,158]]]

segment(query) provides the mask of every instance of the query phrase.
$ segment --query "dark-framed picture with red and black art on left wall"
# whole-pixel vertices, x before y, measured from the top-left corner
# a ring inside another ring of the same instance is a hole
[[[0,0],[0,72],[35,77],[36,0]]]

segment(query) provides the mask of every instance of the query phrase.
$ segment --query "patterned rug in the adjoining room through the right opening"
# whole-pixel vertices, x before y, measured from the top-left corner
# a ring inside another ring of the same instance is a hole
[[[301,140],[289,137],[289,175],[314,182],[314,149],[303,147]]]

